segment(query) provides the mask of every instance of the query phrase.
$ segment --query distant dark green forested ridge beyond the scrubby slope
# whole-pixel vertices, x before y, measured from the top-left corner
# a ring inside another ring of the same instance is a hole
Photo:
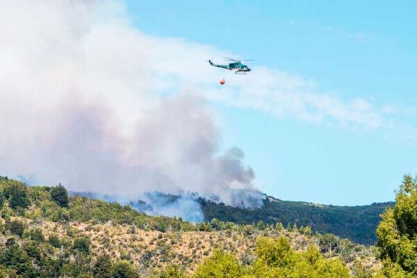
[[[356,243],[372,245],[376,242],[375,230],[384,210],[393,202],[368,206],[325,206],[306,202],[281,201],[267,197],[257,209],[236,208],[199,199],[207,221],[217,218],[239,224],[282,222],[310,226],[321,234],[335,234]]]

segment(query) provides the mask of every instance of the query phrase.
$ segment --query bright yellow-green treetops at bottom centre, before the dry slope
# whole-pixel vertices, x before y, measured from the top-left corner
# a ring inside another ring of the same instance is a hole
[[[285,237],[259,238],[256,259],[242,266],[231,254],[216,251],[198,266],[194,277],[349,278],[349,270],[338,259],[325,259],[316,247],[295,252]]]

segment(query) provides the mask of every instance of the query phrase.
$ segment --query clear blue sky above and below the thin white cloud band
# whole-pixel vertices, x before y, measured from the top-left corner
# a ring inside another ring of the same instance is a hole
[[[244,150],[265,193],[368,204],[392,200],[402,175],[416,174],[416,3],[126,1],[126,7],[146,34],[254,58],[255,70],[281,70],[322,94],[365,99],[393,122],[352,129],[213,103],[222,148]]]

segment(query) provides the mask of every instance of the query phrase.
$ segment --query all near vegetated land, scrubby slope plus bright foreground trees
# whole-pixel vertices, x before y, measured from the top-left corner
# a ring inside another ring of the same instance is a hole
[[[193,224],[0,177],[0,277],[411,278],[416,208],[407,176],[367,247],[296,222]]]

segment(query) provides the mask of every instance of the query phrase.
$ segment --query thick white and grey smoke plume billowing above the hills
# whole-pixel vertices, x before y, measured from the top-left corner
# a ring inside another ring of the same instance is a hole
[[[261,197],[242,151],[218,155],[199,92],[172,92],[177,76],[197,74],[182,72],[188,57],[215,49],[143,35],[113,1],[0,6],[1,174],[131,199],[197,192],[249,206],[235,190]],[[167,53],[182,65],[165,63]]]

